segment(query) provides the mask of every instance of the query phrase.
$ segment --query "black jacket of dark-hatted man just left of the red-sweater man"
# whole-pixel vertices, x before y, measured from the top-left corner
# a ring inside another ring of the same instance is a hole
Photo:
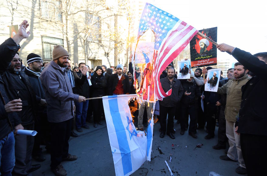
[[[106,95],[106,88],[107,88],[106,76],[103,76],[103,74],[99,76],[95,73],[91,77],[91,82],[93,86],[92,90],[93,97]]]

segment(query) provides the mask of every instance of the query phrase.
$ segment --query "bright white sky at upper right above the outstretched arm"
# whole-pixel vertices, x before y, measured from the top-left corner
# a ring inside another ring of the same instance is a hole
[[[217,43],[252,54],[267,52],[267,1],[260,0],[148,0],[198,30],[218,27]],[[144,2],[145,5],[145,2]],[[217,58],[237,62],[228,53],[217,50]]]

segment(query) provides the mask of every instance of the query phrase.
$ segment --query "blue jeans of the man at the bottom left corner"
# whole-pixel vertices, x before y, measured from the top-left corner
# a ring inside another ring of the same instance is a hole
[[[0,140],[0,151],[0,175],[12,176],[11,172],[15,166],[15,138],[13,132]]]

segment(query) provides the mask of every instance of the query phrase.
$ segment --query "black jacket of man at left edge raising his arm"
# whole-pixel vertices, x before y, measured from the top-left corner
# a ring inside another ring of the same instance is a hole
[[[15,56],[16,52],[19,50],[20,46],[11,39],[7,39],[0,45],[0,56],[1,64],[0,71],[1,73],[5,72],[8,64]],[[7,136],[13,129],[14,126],[21,123],[21,120],[17,113],[7,113],[5,111],[5,104],[10,101],[8,98],[2,76],[0,75],[0,140]]]

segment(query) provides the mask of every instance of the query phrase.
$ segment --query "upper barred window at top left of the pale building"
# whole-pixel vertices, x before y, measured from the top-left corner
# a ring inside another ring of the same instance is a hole
[[[62,4],[60,0],[40,0],[40,8],[42,19],[62,22]]]

